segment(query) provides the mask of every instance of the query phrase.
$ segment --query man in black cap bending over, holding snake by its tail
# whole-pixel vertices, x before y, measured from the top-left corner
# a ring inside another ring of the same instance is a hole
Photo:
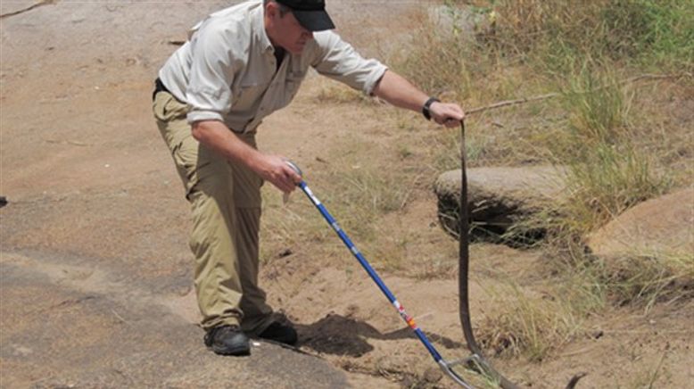
[[[363,59],[331,29],[324,0],[237,4],[196,25],[156,80],[154,116],[193,212],[204,342],[219,354],[248,354],[247,335],[297,341],[258,286],[258,229],[263,181],[288,194],[301,178],[282,156],[260,153],[255,133],[292,101],[309,67],[439,124],[463,119],[458,105]]]

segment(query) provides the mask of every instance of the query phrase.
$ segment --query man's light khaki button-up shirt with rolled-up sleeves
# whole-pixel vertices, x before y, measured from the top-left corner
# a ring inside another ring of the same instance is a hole
[[[368,95],[383,77],[384,64],[365,60],[333,31],[314,33],[302,54],[286,52],[277,69],[263,12],[254,0],[212,13],[161,68],[161,82],[188,104],[188,122],[220,120],[252,132],[292,101],[309,67]]]

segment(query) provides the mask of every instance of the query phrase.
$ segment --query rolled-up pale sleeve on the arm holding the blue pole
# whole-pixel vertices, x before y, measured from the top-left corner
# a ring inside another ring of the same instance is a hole
[[[240,64],[233,49],[238,46],[234,42],[238,34],[230,29],[219,24],[202,26],[191,39],[193,55],[186,89],[186,102],[190,106],[187,120],[190,123],[224,121],[224,116],[231,110],[230,86]]]

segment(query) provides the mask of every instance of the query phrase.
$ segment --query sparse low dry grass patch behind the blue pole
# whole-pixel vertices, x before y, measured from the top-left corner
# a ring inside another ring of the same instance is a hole
[[[335,156],[323,169],[311,171],[311,190],[326,206],[338,224],[378,269],[401,269],[407,236],[393,236],[392,226],[384,223],[391,213],[407,205],[416,190],[408,164],[392,166],[386,172],[377,160],[390,160],[398,155],[397,146],[384,150],[379,145],[363,144],[359,138],[337,145],[328,145]],[[277,257],[286,247],[320,244],[323,256],[350,260],[335,232],[326,224],[301,190],[284,204],[277,191],[264,193],[265,220],[261,231],[263,261]]]

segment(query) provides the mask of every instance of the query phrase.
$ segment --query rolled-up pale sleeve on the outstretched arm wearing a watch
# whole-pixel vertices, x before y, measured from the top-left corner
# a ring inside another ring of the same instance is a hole
[[[318,73],[372,95],[388,68],[375,59],[364,59],[333,31],[314,35],[318,53],[311,65]]]

